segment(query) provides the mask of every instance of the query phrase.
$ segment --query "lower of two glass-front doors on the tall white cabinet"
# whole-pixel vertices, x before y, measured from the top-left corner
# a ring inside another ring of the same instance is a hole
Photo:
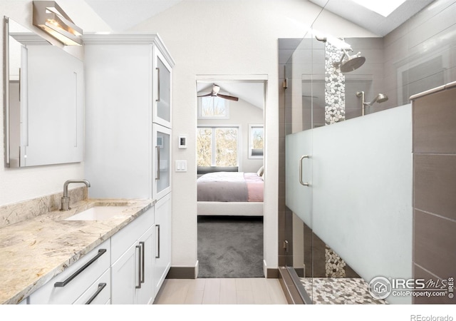
[[[152,130],[152,198],[160,199],[171,190],[171,130],[155,123]]]

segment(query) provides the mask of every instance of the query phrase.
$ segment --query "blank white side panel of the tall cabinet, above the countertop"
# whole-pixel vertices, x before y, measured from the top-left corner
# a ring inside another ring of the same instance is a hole
[[[152,46],[90,44],[85,55],[90,197],[150,198]]]

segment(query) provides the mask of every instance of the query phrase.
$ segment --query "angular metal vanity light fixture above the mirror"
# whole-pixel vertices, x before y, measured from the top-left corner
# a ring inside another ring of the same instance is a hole
[[[81,46],[83,29],[76,26],[56,1],[33,1],[33,26],[66,46]]]

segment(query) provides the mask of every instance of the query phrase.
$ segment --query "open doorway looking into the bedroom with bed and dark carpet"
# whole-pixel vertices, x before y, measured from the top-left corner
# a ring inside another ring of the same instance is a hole
[[[198,77],[198,277],[264,277],[265,88]]]

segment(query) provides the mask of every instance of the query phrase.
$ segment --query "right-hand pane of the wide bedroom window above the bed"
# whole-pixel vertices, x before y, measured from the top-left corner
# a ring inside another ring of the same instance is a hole
[[[237,166],[237,128],[215,128],[215,165]]]

